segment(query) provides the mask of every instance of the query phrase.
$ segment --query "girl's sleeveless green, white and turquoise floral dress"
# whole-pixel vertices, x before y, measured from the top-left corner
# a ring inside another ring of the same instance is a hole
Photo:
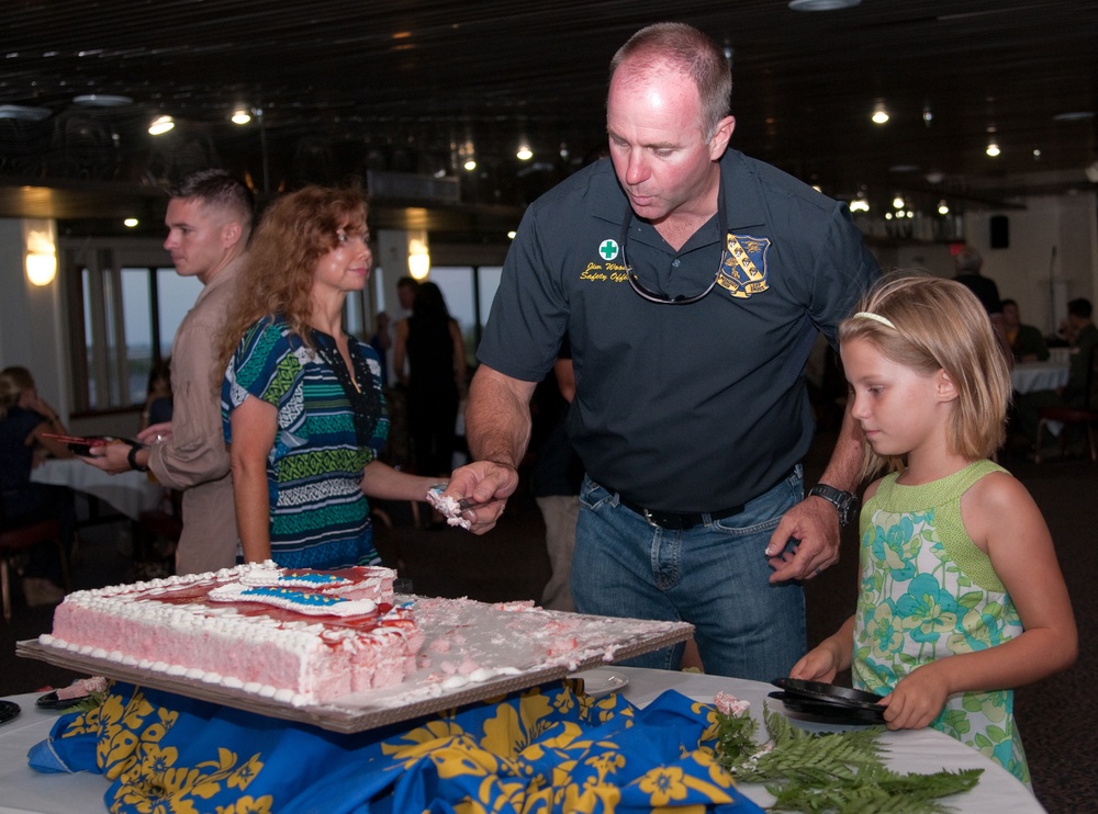
[[[961,496],[991,472],[977,461],[919,486],[886,476],[862,508],[861,590],[854,619],[854,687],[887,694],[937,658],[1002,644],[1021,621],[990,559],[961,521]],[[1012,690],[951,696],[930,724],[1029,783]]]

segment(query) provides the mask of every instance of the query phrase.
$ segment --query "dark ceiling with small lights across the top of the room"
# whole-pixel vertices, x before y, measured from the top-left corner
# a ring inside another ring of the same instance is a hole
[[[0,118],[0,184],[157,186],[211,163],[271,191],[445,172],[464,201],[522,206],[602,146],[609,58],[668,14],[665,0],[11,0],[0,105],[47,117]],[[674,18],[732,55],[733,146],[829,194],[974,203],[1012,194],[1030,172],[1054,177],[1047,189],[1091,189],[1098,0],[863,0],[815,13],[684,0]],[[81,94],[133,103],[87,108]],[[878,99],[893,113],[884,127],[869,122]],[[261,134],[258,120],[228,123],[240,103],[264,111]],[[156,140],[145,126],[158,112],[178,126]],[[1056,118],[1077,112],[1090,116]],[[984,152],[989,128],[997,159]],[[520,137],[530,165],[514,157]]]

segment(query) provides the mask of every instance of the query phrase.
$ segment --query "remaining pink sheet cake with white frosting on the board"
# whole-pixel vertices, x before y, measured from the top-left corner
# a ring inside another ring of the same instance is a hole
[[[274,563],[69,593],[46,646],[295,705],[400,683],[423,644],[390,568]]]

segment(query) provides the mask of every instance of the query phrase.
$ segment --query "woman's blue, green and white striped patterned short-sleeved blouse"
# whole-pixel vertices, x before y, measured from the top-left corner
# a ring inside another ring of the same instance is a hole
[[[248,329],[222,383],[225,442],[233,442],[229,415],[247,396],[278,408],[267,456],[274,562],[288,568],[377,563],[360,483],[389,434],[381,365],[370,346],[350,337],[352,380],[333,337],[314,330],[310,339],[312,349],[282,317]]]

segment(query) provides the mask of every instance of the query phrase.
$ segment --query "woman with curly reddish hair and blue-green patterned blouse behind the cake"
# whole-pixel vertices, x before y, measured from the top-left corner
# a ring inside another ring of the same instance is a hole
[[[367,496],[422,500],[435,478],[378,460],[381,365],[343,327],[370,275],[366,200],[305,186],[264,214],[222,333],[224,439],[245,562],[379,562]]]

